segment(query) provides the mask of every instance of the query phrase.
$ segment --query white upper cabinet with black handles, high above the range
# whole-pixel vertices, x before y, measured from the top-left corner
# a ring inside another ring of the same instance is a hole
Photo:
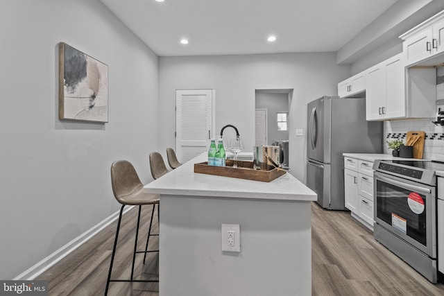
[[[400,36],[404,40],[406,66],[423,62],[444,52],[444,10]]]

